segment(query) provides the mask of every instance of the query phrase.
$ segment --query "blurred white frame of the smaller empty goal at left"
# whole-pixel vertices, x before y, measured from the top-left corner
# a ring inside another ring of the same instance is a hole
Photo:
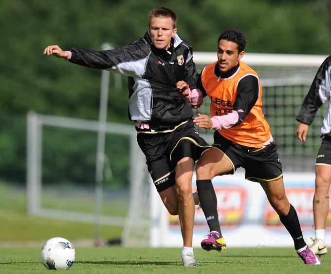
[[[27,116],[27,212],[29,215],[37,215],[47,218],[67,219],[72,221],[95,222],[96,216],[89,213],[71,212],[67,210],[46,209],[41,206],[41,158],[42,158],[42,128],[51,126],[67,128],[71,130],[84,130],[98,132],[99,122],[92,120],[76,119],[69,117],[55,117],[40,115],[29,112]],[[141,153],[136,141],[134,127],[124,124],[106,123],[105,132],[126,135],[130,138],[130,200],[137,200],[142,180],[137,174],[142,173],[139,163],[145,163],[144,155]],[[74,141],[74,140],[73,140]],[[101,215],[101,224],[124,226],[126,217]]]

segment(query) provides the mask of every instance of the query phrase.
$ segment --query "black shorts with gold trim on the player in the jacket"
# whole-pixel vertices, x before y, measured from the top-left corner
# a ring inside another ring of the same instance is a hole
[[[148,172],[158,192],[176,184],[175,167],[184,157],[197,161],[211,146],[199,136],[190,119],[163,131],[140,130],[137,141],[146,156]]]

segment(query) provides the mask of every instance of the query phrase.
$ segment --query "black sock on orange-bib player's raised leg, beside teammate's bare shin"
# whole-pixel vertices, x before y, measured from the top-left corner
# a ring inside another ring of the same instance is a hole
[[[211,180],[197,180],[197,190],[210,231],[217,231],[221,234],[217,198]]]

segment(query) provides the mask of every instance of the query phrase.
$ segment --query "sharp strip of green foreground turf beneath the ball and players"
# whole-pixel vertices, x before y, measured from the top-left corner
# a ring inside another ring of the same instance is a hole
[[[182,266],[179,248],[76,248],[72,274],[318,274],[331,273],[331,259],[322,266],[305,265],[291,248],[229,248],[221,253],[195,248],[197,268]],[[40,261],[40,248],[0,248],[0,273],[50,273]]]

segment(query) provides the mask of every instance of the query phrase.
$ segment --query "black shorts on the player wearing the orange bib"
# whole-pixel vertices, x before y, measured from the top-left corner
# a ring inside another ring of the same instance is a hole
[[[216,131],[213,147],[221,150],[232,163],[233,170],[229,174],[243,167],[245,178],[253,182],[273,181],[282,176],[282,166],[274,143],[261,148],[241,146]]]

